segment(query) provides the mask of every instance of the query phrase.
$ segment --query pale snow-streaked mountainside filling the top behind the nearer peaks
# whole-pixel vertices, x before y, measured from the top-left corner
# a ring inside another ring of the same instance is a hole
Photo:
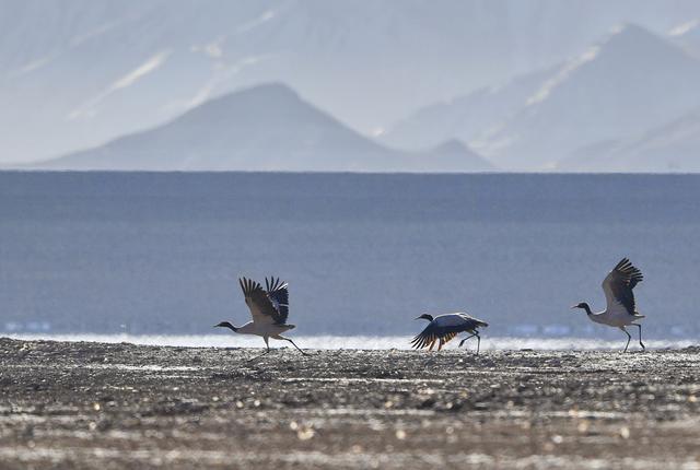
[[[280,81],[364,133],[561,61],[612,24],[667,32],[695,0],[0,0],[0,161],[162,124]]]

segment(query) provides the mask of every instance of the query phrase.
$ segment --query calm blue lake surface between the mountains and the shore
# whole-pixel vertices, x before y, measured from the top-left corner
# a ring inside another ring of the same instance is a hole
[[[298,336],[410,336],[467,310],[487,334],[616,341],[623,256],[660,340],[700,334],[700,177],[0,173],[0,332],[203,334],[290,282]]]

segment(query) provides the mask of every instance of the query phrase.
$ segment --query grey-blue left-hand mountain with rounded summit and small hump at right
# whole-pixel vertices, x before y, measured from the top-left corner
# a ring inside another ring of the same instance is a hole
[[[168,124],[33,165],[50,169],[481,172],[455,142],[423,152],[385,148],[281,84],[208,101]]]

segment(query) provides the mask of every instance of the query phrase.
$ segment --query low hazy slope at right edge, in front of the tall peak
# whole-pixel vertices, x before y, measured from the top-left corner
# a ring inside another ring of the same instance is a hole
[[[563,160],[564,172],[700,172],[700,108],[625,141],[599,142]]]

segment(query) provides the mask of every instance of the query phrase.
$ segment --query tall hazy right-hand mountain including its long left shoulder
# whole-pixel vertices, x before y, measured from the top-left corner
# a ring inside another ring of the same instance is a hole
[[[612,166],[593,155],[609,151],[600,142],[639,138],[700,106],[697,83],[699,60],[628,24],[553,71],[424,108],[385,139],[410,148],[421,139],[452,134],[508,169],[625,171],[622,162],[633,165],[629,171],[664,171],[666,164],[670,169],[670,155],[618,158]],[[583,158],[580,164],[578,157]],[[661,166],[658,158],[665,162]],[[567,162],[557,163],[562,160]],[[697,166],[689,163],[691,155],[682,160],[682,168]]]

